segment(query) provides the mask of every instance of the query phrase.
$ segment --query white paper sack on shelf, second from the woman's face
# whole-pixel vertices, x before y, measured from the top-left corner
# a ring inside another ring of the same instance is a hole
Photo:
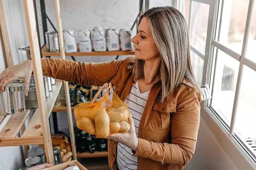
[[[118,51],[120,49],[119,33],[116,29],[106,30],[106,44],[108,51]]]

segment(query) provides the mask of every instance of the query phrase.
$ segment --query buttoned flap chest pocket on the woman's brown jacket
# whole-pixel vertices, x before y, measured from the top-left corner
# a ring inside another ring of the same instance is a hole
[[[171,103],[155,103],[153,106],[152,128],[163,130],[170,127],[170,113],[176,112],[176,105]]]

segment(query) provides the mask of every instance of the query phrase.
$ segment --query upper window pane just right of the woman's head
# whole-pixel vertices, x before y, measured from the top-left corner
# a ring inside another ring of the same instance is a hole
[[[201,53],[205,53],[209,5],[191,1],[190,43]]]

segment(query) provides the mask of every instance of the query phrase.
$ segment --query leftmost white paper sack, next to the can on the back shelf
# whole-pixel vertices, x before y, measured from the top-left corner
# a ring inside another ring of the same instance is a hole
[[[77,52],[76,38],[75,38],[74,31],[72,29],[63,30],[63,41],[64,41],[64,49],[66,53]]]

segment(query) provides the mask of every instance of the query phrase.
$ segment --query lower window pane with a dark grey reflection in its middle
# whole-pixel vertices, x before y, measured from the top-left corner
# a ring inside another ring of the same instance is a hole
[[[239,62],[221,50],[217,55],[211,106],[230,126]]]

